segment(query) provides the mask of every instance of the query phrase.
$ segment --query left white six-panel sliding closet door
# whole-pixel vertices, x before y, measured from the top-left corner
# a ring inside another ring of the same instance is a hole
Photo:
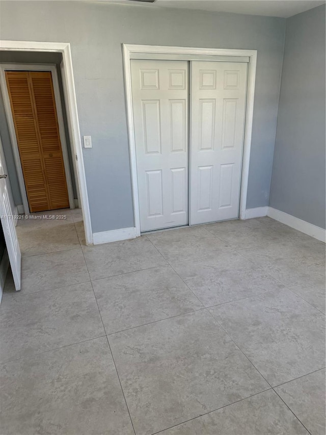
[[[131,60],[141,231],[188,223],[188,64]]]

